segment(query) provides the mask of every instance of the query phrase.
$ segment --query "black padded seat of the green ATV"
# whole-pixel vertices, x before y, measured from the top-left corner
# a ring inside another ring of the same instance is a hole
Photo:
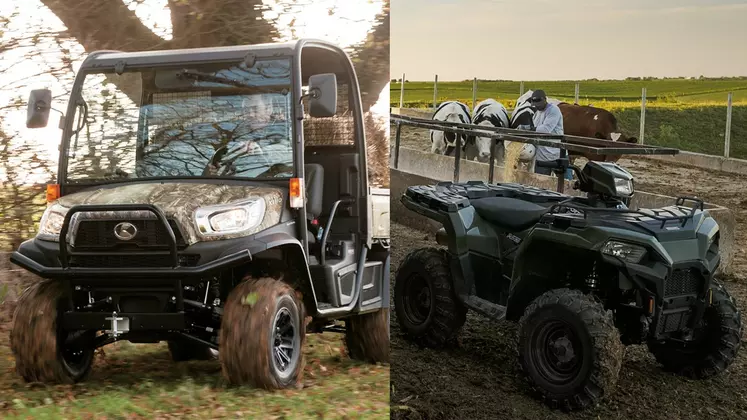
[[[528,229],[549,209],[539,204],[507,197],[486,197],[472,200],[480,217],[510,232]]]

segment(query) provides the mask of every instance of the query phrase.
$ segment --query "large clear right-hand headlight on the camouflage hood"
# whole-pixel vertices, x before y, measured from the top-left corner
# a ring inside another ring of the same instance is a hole
[[[256,228],[265,216],[265,200],[255,198],[235,204],[197,209],[195,222],[203,235],[226,235]]]

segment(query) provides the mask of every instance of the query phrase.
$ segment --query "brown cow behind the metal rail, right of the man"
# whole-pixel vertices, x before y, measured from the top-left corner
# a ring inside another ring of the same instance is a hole
[[[595,137],[598,139],[638,143],[636,137],[626,137],[617,128],[617,118],[611,112],[586,105],[574,105],[566,102],[558,104],[563,114],[563,132],[570,136]],[[620,155],[588,155],[570,152],[569,158],[583,156],[588,160],[617,162]]]

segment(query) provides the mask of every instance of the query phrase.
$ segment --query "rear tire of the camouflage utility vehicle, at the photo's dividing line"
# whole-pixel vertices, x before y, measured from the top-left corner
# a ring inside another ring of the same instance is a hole
[[[351,359],[389,363],[389,309],[347,318],[345,345]]]

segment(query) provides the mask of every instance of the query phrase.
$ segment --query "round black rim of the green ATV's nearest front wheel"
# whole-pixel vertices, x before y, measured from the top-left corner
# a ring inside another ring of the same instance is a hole
[[[552,385],[567,385],[578,377],[584,360],[583,345],[573,328],[560,320],[537,326],[532,339],[531,359],[537,372]]]

